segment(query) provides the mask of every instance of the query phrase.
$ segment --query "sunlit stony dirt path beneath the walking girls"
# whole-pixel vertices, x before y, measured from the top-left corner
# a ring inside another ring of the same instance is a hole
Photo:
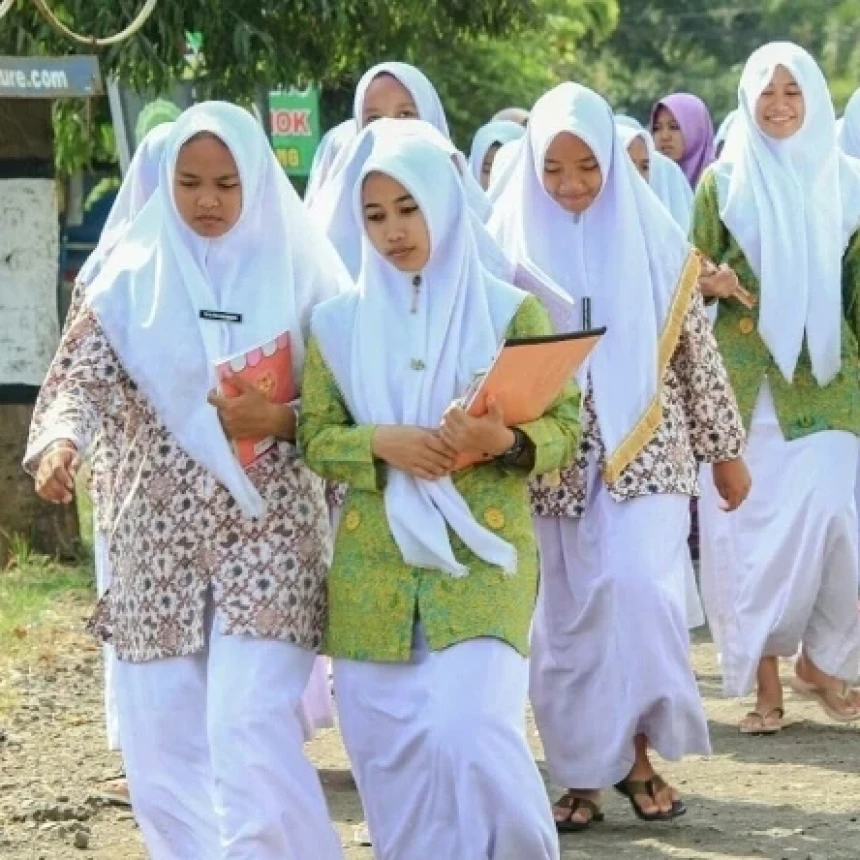
[[[131,815],[102,807],[94,797],[120,764],[104,748],[100,656],[79,632],[85,612],[80,603],[60,606],[51,647],[11,679],[18,705],[0,717],[3,860],[145,858]],[[677,824],[647,826],[607,797],[607,822],[585,836],[565,837],[565,860],[858,860],[860,728],[826,723],[813,706],[789,695],[794,722],[782,735],[741,737],[735,729],[741,708],[718,697],[708,644],[696,645],[695,663],[715,755],[665,769],[683,791],[689,814]],[[530,734],[540,760],[533,727]],[[322,773],[346,856],[371,860],[370,849],[352,843],[361,808],[337,733],[321,734],[309,753]],[[86,850],[74,847],[78,830],[88,834],[77,837],[88,842]]]

